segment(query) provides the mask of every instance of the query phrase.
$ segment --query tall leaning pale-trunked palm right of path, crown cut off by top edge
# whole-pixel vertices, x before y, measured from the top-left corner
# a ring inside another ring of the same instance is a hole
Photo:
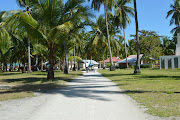
[[[111,45],[110,45],[110,36],[109,36],[109,27],[108,27],[109,23],[108,23],[108,19],[107,19],[107,11],[108,11],[108,9],[112,9],[112,7],[115,6],[116,2],[115,2],[115,0],[92,0],[92,7],[95,10],[99,10],[100,5],[102,3],[104,4],[104,11],[105,11],[107,39],[108,39],[109,56],[110,56],[110,63],[111,63],[110,71],[113,71],[113,70],[115,70],[115,67],[114,67],[113,61],[112,61],[112,53],[111,53]]]

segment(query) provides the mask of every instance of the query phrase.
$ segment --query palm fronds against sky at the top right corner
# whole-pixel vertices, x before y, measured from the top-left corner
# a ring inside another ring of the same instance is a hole
[[[172,18],[170,20],[170,25],[175,24],[176,27],[172,29],[172,33],[174,31],[179,32],[179,26],[180,26],[180,0],[174,0],[174,5],[171,4],[171,10],[167,12],[166,18],[170,17],[172,15]]]

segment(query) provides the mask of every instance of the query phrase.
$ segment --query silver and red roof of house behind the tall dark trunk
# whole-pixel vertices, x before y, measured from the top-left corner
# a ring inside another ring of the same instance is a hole
[[[142,58],[143,54],[140,54],[139,57],[140,59]],[[130,55],[127,57],[127,62],[128,63],[135,63],[137,61],[137,55]],[[126,63],[126,58],[123,59],[122,61],[119,61],[117,63]]]

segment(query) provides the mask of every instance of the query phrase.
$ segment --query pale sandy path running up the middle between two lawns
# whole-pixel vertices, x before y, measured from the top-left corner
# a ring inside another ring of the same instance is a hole
[[[0,102],[0,120],[152,119],[97,72],[84,73],[68,87],[38,97]]]

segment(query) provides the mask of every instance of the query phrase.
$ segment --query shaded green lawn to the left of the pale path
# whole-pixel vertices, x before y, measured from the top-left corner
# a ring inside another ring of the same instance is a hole
[[[19,99],[35,96],[33,92],[46,92],[65,85],[66,82],[82,75],[81,71],[71,71],[64,74],[62,71],[55,71],[53,82],[47,81],[47,72],[4,72],[0,73],[0,101]],[[5,87],[4,87],[5,86]]]

